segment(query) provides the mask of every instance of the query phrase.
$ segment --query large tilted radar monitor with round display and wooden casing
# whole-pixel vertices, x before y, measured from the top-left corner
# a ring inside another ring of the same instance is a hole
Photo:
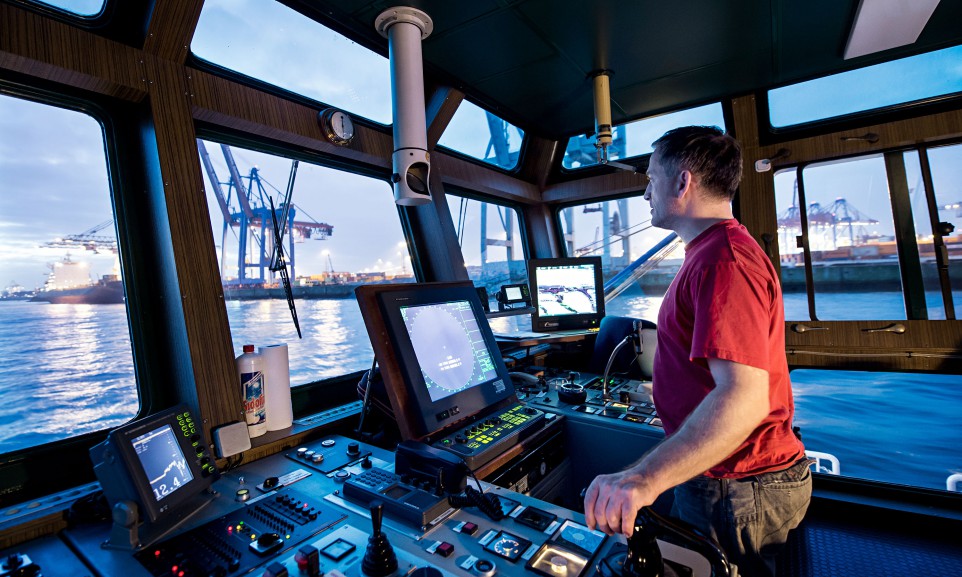
[[[401,436],[423,440],[515,398],[471,283],[356,290]]]

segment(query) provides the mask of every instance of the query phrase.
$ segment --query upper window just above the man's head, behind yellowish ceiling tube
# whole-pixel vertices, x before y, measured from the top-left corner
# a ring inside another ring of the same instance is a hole
[[[689,125],[718,126],[725,130],[725,115],[721,104],[716,102],[615,126],[612,129],[608,157],[611,160],[624,160],[651,154],[651,143],[662,134],[672,128]],[[574,169],[596,164],[598,149],[595,148],[594,135],[573,136],[568,139],[561,166]]]

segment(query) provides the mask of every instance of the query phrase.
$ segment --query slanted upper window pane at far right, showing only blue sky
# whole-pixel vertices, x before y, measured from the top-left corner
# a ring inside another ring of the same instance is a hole
[[[962,46],[768,91],[769,122],[787,128],[962,93]]]

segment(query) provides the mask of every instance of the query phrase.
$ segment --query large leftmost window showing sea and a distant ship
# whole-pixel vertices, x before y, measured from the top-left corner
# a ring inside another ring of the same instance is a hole
[[[104,131],[0,96],[0,453],[136,416]]]

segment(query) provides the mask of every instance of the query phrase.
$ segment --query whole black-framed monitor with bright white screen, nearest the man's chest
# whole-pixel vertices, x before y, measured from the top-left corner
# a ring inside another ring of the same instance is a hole
[[[605,316],[601,257],[530,259],[532,330],[598,328]]]

